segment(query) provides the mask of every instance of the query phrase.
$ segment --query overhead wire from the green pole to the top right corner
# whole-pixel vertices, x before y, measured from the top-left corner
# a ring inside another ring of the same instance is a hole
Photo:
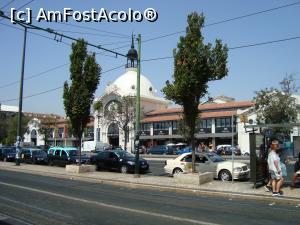
[[[299,4],[300,4],[300,1],[297,1],[297,2],[294,2],[294,3],[278,6],[278,7],[275,7],[275,8],[270,8],[270,9],[266,9],[266,10],[262,10],[262,11],[258,11],[258,12],[254,12],[254,13],[249,13],[249,14],[246,14],[246,15],[243,15],[243,16],[237,16],[237,17],[221,20],[221,21],[214,22],[214,23],[209,23],[209,24],[204,25],[203,27],[215,26],[215,25],[218,25],[218,24],[227,23],[227,22],[231,22],[231,21],[235,21],[235,20],[239,20],[239,19],[244,19],[244,18],[247,18],[247,17],[251,17],[251,16],[255,16],[255,15],[259,15],[259,14],[263,14],[263,13],[267,13],[267,12],[271,12],[271,11],[275,11],[275,10],[279,10],[279,9],[283,9],[283,8],[287,8],[287,7],[291,7],[291,6],[295,6],[295,5],[299,5]],[[170,33],[170,34],[165,34],[165,35],[160,35],[160,36],[157,36],[157,37],[145,39],[145,40],[143,40],[143,43],[149,42],[149,41],[154,41],[154,40],[165,38],[165,37],[170,37],[170,36],[173,36],[173,35],[176,35],[176,34],[181,34],[181,33],[184,33],[184,32],[185,32],[185,30],[181,30],[181,31]]]

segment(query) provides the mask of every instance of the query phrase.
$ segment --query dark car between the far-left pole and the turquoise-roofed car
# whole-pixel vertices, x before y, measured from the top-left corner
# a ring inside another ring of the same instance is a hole
[[[22,162],[32,164],[48,163],[47,153],[38,148],[23,148],[21,151],[21,160]]]

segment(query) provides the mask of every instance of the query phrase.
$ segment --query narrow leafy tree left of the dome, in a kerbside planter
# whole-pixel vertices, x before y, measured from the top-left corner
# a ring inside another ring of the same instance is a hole
[[[101,67],[96,62],[95,54],[87,53],[83,39],[72,44],[70,61],[71,84],[69,86],[68,82],[65,82],[63,98],[66,115],[78,140],[80,164],[82,133],[89,122],[94,93],[100,81]]]

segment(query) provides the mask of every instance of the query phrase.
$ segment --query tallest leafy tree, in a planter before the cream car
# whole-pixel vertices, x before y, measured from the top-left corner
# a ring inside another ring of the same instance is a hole
[[[177,49],[174,49],[173,83],[166,82],[163,92],[166,98],[181,105],[183,122],[192,145],[192,170],[195,172],[195,125],[199,116],[200,99],[207,94],[208,82],[220,80],[228,73],[228,48],[221,40],[215,46],[204,43],[201,28],[204,26],[203,14],[196,12],[188,15],[186,35],[180,37]]]

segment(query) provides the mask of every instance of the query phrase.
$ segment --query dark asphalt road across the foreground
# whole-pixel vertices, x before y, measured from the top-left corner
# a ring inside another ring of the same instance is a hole
[[[0,224],[299,224],[300,206],[0,170]]]

